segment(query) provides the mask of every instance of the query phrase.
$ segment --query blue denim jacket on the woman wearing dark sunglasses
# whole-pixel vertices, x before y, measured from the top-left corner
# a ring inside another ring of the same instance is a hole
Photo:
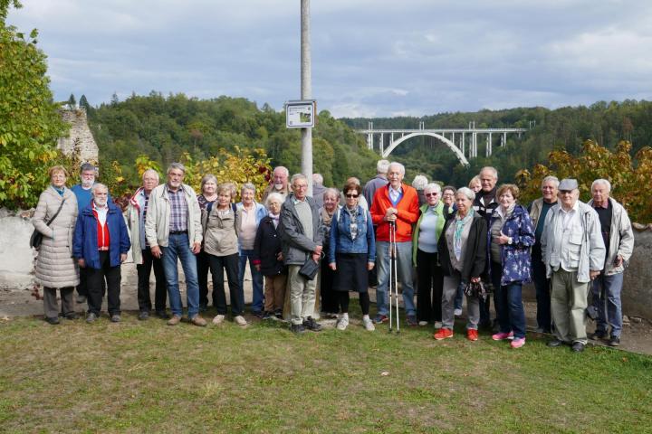
[[[367,213],[365,216],[364,213]],[[365,224],[367,221],[367,224]],[[329,263],[335,262],[335,253],[367,253],[367,262],[376,261],[376,240],[371,214],[358,205],[358,236],[351,239],[350,214],[344,208],[338,209],[331,222],[329,242]]]

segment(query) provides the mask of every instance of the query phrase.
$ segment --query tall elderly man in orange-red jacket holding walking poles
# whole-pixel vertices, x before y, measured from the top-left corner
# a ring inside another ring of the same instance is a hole
[[[378,279],[376,323],[388,321],[389,284],[389,229],[396,230],[397,269],[403,288],[403,302],[408,316],[408,325],[417,325],[417,311],[414,305],[414,284],[412,282],[412,225],[419,216],[417,190],[403,184],[405,167],[391,163],[388,168],[389,184],[380,187],[374,194],[371,205],[371,220],[376,228],[376,251],[378,255]]]

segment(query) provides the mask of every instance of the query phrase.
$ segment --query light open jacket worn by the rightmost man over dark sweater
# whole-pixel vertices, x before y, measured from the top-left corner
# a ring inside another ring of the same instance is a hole
[[[627,211],[620,203],[610,197],[609,202],[613,214],[611,216],[611,228],[609,229],[609,256],[604,268],[604,273],[607,276],[625,271],[624,262],[629,260],[634,250],[634,231],[631,229]],[[593,206],[593,199],[589,201],[589,206]],[[615,267],[613,263],[618,255],[622,256],[623,263]]]

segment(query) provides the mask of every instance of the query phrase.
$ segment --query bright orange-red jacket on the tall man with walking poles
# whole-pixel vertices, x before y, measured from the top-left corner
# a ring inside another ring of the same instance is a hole
[[[374,194],[371,204],[371,220],[376,228],[376,241],[389,241],[389,223],[385,222],[385,212],[390,207],[398,210],[396,241],[412,241],[412,225],[418,220],[418,195],[417,190],[407,184],[401,184],[403,197],[394,207],[389,199],[389,184],[380,187]]]

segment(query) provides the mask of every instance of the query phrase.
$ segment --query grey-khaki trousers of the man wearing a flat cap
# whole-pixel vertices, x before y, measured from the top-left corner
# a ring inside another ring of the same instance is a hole
[[[559,269],[552,272],[551,314],[555,335],[562,342],[587,343],[586,307],[589,283],[577,281],[577,271]]]

